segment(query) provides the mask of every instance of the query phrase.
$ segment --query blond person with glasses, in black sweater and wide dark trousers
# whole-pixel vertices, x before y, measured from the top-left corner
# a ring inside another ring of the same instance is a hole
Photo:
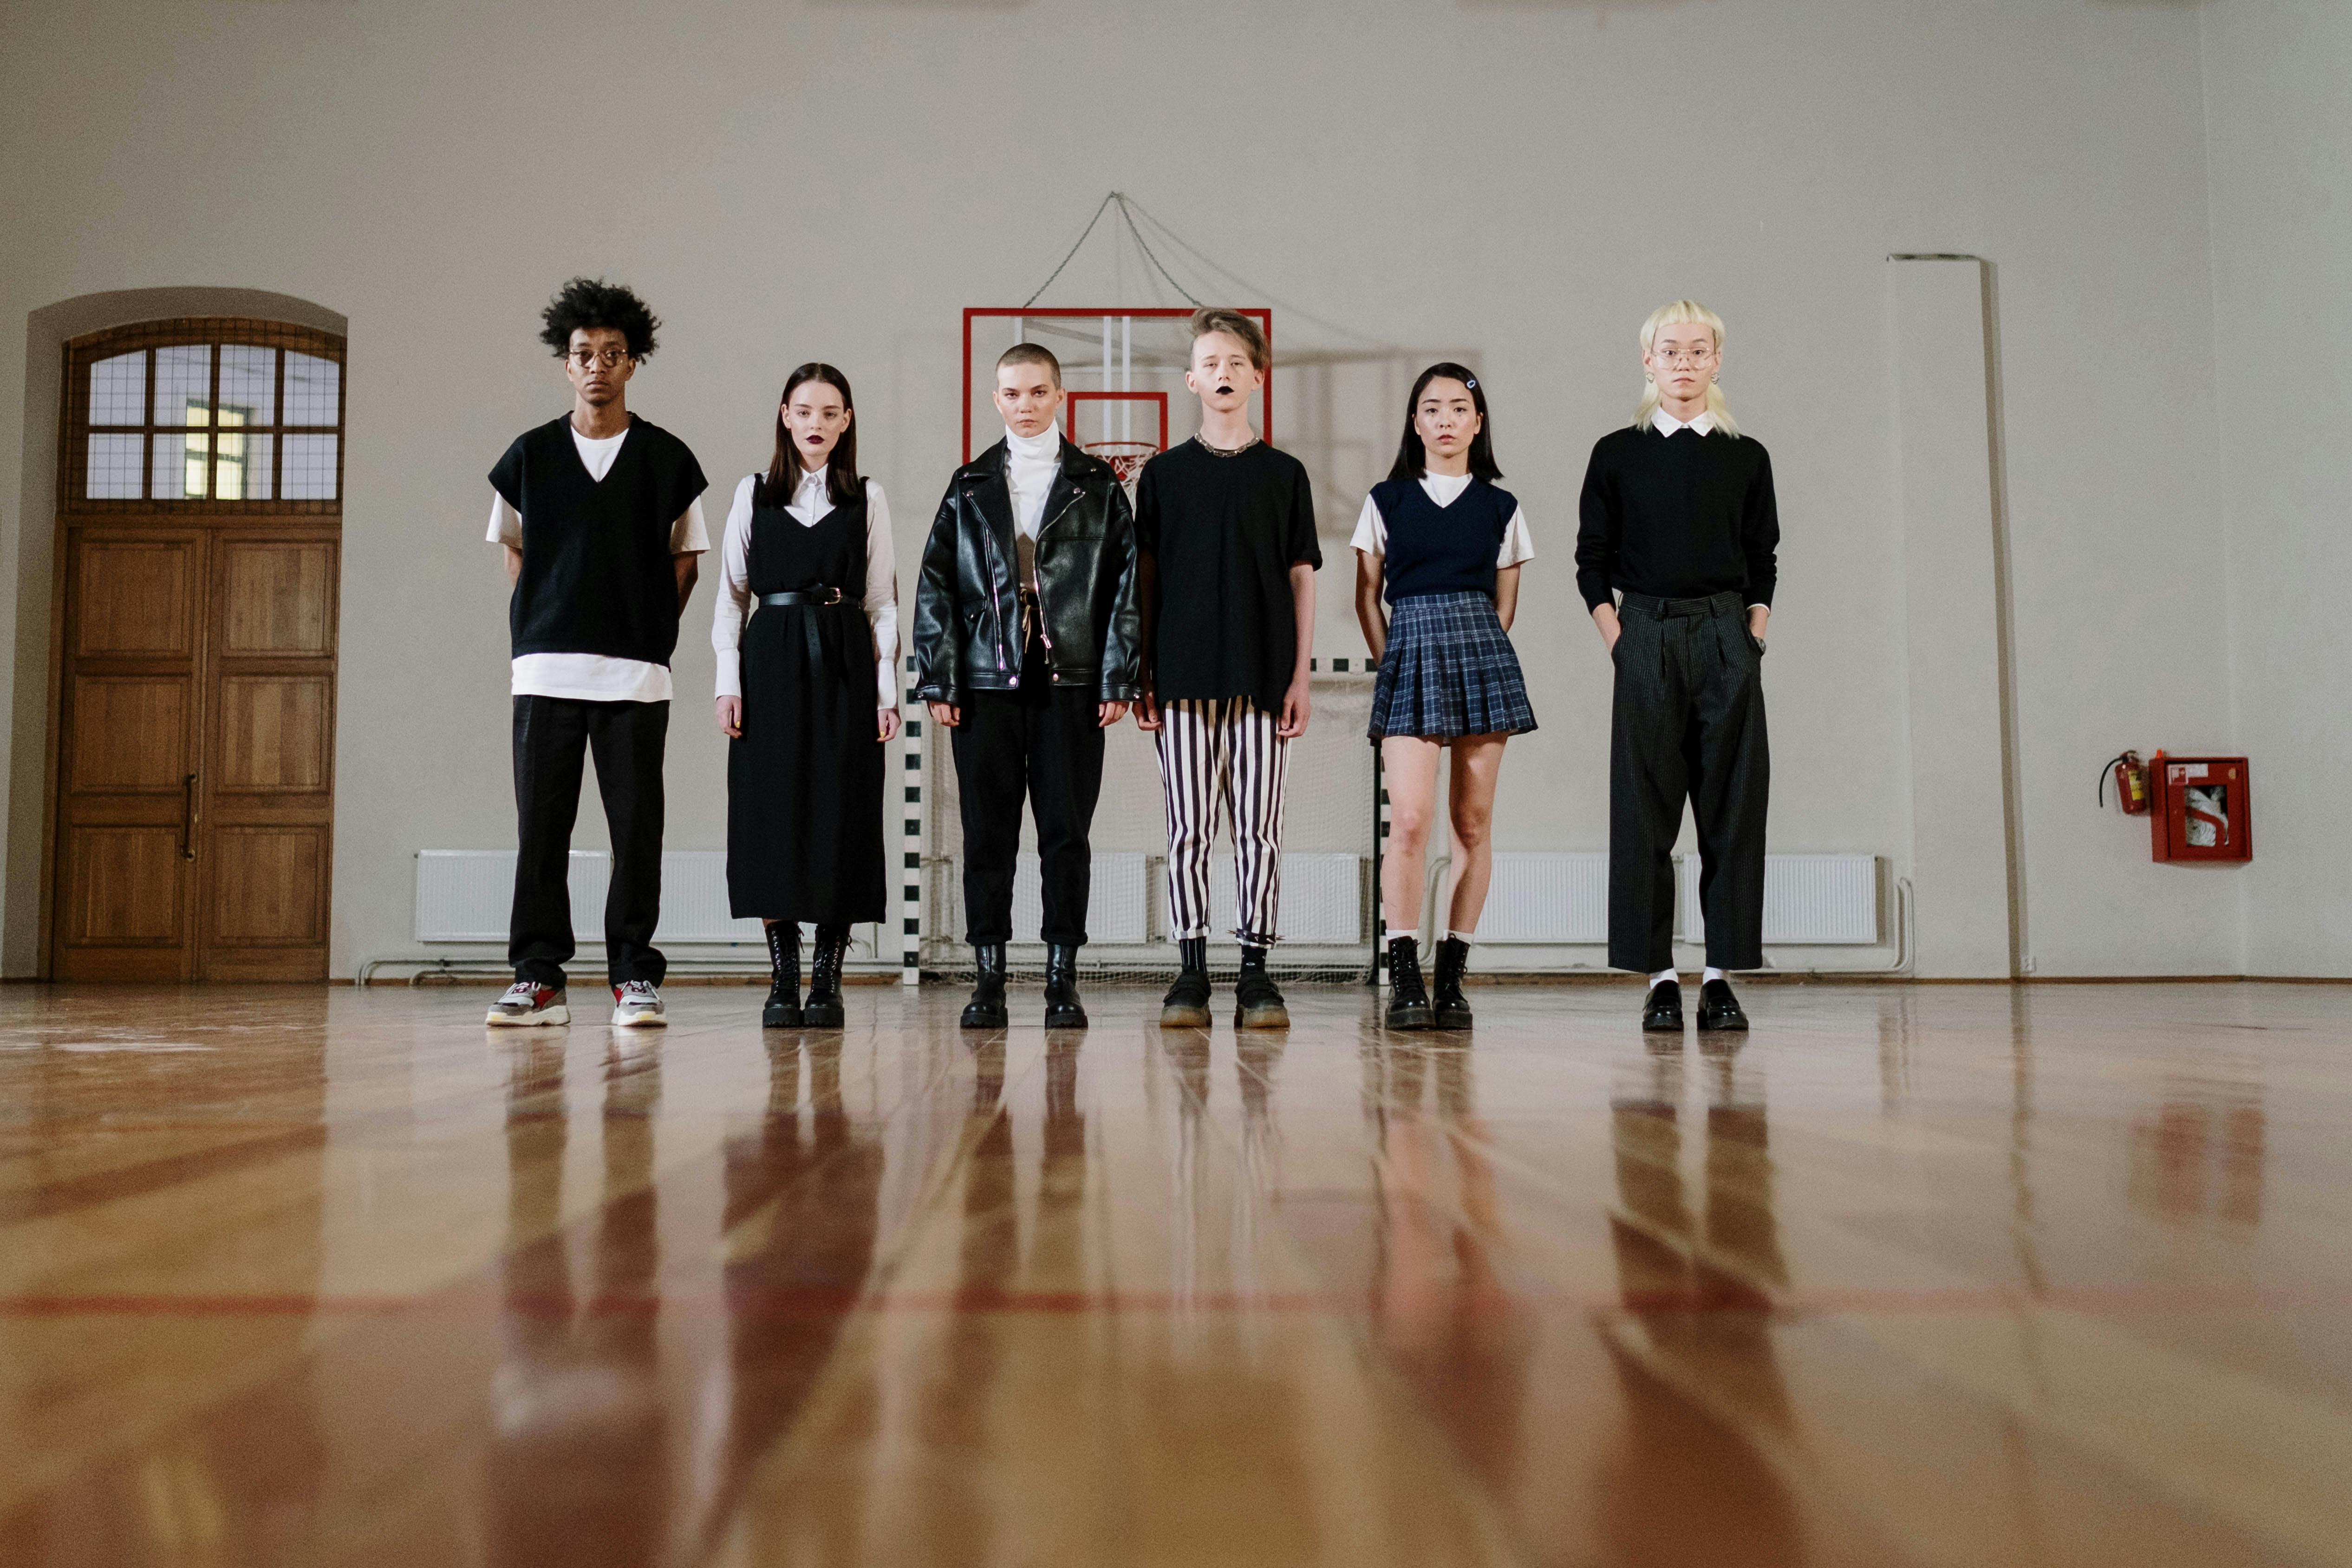
[[[1724,322],[1677,299],[1642,324],[1642,404],[1592,447],[1576,588],[1613,665],[1609,964],[1649,976],[1642,1027],[1682,1032],[1675,837],[1698,825],[1698,1027],[1745,1030],[1726,971],[1764,964],[1764,625],[1778,583],[1771,456],[1731,423]]]

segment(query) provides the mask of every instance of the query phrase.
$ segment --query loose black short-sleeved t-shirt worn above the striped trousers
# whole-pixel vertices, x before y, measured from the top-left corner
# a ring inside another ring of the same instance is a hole
[[[1265,442],[1169,447],[1136,482],[1136,548],[1157,562],[1155,696],[1279,712],[1298,665],[1291,567],[1322,569],[1305,463]]]

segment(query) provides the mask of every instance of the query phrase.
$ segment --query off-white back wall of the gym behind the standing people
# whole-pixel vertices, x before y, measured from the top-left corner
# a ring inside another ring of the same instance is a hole
[[[513,835],[506,588],[477,541],[485,470],[564,407],[532,341],[550,287],[607,273],[654,301],[668,331],[633,402],[722,487],[764,461],[781,371],[844,364],[906,552],[957,451],[957,308],[1025,294],[1112,186],[1277,313],[1482,362],[1545,541],[1517,632],[1543,731],[1515,743],[1498,813],[1517,849],[1606,842],[1576,487],[1630,411],[1642,315],[1693,294],[1731,322],[1726,390],[1780,482],[1773,846],[1903,870],[1882,270],[1990,256],[2027,950],[2042,973],[2241,964],[2241,882],[2150,867],[2089,795],[2122,745],[2237,733],[2225,661],[2147,658],[2150,628],[2227,635],[2220,574],[2183,569],[2211,548],[2218,463],[2194,9],[49,0],[7,26],[0,364],[31,310],[99,289],[242,284],[350,320],[339,973],[409,947],[414,849]],[[1693,108],[1661,122],[1661,99]],[[1112,287],[1077,273],[1049,299]],[[1287,346],[1357,341],[1277,322]],[[9,562],[19,529],[52,527],[16,501],[21,418],[0,376]],[[1338,477],[1388,425],[1322,454],[1334,651],[1355,646],[1359,501]],[[722,842],[706,614],[708,590],[677,661],[675,846]],[[19,665],[45,658],[47,625],[5,630]],[[14,788],[12,820],[28,811]],[[33,957],[12,896],[9,973]]]

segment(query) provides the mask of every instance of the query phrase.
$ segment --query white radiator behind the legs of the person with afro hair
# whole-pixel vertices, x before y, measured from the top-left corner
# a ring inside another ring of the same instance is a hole
[[[612,856],[572,851],[572,929],[579,940],[604,938],[604,889]],[[416,851],[416,940],[503,943],[515,898],[513,849]],[[673,849],[661,856],[661,926],[656,943],[760,945],[760,922],[727,912],[727,851]]]

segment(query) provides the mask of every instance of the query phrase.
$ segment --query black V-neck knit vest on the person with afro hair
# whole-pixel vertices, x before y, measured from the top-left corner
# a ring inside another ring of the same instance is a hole
[[[706,487],[687,444],[630,416],[612,468],[590,480],[564,416],[517,435],[489,482],[522,512],[522,576],[506,611],[515,656],[668,665],[677,649],[670,524]]]

